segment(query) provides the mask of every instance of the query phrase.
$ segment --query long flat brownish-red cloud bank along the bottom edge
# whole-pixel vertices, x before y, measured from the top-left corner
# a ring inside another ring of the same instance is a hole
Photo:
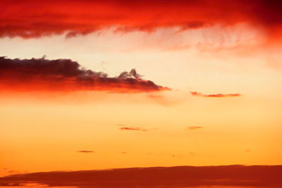
[[[0,177],[0,186],[25,183],[48,187],[282,187],[282,165],[178,166],[55,171]]]

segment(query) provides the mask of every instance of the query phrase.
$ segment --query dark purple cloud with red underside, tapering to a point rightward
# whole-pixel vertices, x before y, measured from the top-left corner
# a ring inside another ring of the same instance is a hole
[[[116,93],[168,90],[143,80],[135,69],[116,77],[82,68],[71,59],[0,57],[0,88],[16,92],[106,91]]]

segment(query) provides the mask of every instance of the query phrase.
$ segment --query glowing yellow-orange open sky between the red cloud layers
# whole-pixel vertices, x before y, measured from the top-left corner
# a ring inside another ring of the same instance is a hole
[[[71,58],[113,76],[136,68],[145,79],[173,89],[155,94],[1,93],[0,167],[32,172],[281,163],[279,51],[264,46],[262,35],[236,25],[176,34],[171,28],[0,39],[1,56]],[[207,98],[191,96],[191,91],[242,96]]]

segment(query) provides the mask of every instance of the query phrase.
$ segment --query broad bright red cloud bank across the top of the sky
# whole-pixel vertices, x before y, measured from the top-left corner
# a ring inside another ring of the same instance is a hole
[[[55,8],[56,7],[56,8]],[[279,0],[2,0],[0,37],[42,37],[67,32],[68,37],[104,28],[151,32],[159,27],[199,29],[250,23],[277,38],[282,27]]]

